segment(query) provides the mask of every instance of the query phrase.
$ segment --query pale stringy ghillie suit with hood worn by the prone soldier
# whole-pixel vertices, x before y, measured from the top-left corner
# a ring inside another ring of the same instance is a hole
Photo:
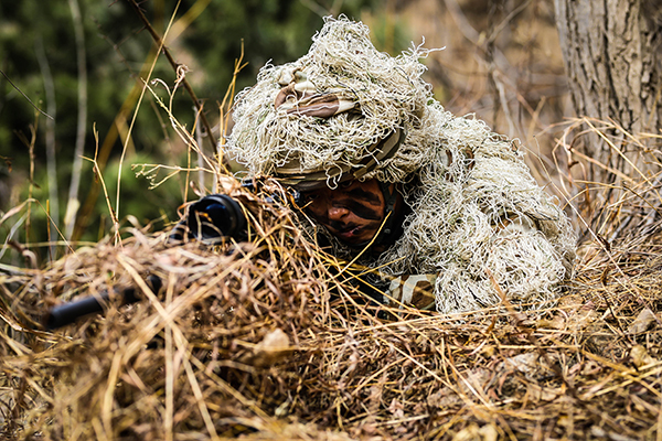
[[[419,62],[428,53],[392,57],[362,23],[328,19],[307,55],[263,67],[239,93],[226,151],[249,175],[299,187],[404,183],[402,236],[367,265],[398,281],[425,275],[444,313],[498,304],[501,292],[541,308],[572,272],[572,226],[515,142],[434,99]],[[337,254],[356,252],[331,239]]]

